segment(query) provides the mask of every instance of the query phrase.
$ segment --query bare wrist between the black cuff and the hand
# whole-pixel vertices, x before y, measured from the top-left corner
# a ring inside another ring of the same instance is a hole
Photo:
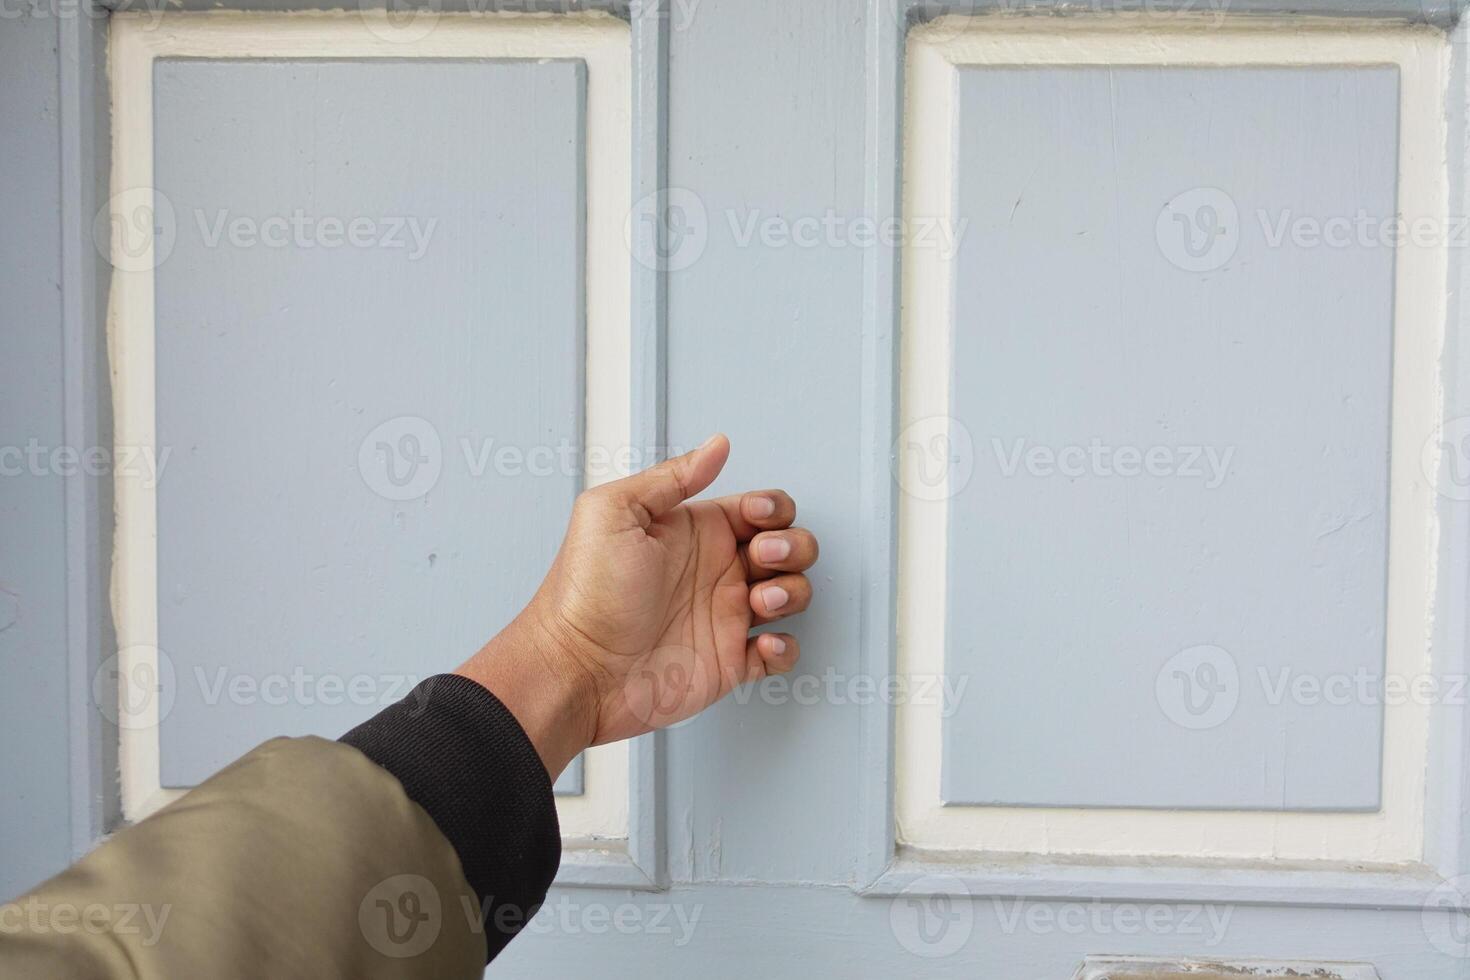
[[[454,671],[504,704],[556,782],[597,732],[597,685],[529,610]]]

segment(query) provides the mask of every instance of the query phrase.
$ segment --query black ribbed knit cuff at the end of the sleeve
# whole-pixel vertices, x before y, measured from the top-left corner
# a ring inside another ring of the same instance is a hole
[[[340,741],[392,773],[459,852],[494,959],[562,861],[551,780],[520,723],[473,680],[437,674]]]

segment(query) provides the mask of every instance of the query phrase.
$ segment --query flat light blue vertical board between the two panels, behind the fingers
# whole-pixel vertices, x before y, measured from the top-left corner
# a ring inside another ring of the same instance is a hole
[[[711,492],[784,486],[798,522],[822,541],[811,573],[819,598],[791,624],[816,693],[767,682],[667,736],[676,879],[854,876],[854,793],[872,771],[856,751],[864,705],[826,696],[820,679],[831,673],[845,692],[863,671],[864,256],[826,238],[800,245],[747,229],[811,228],[831,215],[845,238],[861,215],[858,13],[856,4],[717,3],[672,35],[669,184],[698,234],[669,273],[669,441],[692,447],[726,432],[734,451]],[[739,69],[756,51],[763,71]],[[731,98],[713,79],[736,71],[745,91]],[[711,385],[716,376],[739,383]]]

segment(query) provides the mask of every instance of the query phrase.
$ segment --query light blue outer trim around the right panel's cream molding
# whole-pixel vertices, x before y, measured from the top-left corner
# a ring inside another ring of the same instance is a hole
[[[1108,10],[1197,7],[1197,0],[1098,0]],[[903,216],[904,53],[910,28],[947,13],[998,16],[1028,13],[1086,13],[1066,0],[869,0],[866,104],[866,213],[875,219]],[[1445,29],[1451,51],[1446,87],[1448,145],[1470,138],[1470,29],[1461,25],[1463,0],[1245,0],[1230,4],[1230,16],[1320,15],[1377,18],[1394,24]],[[1470,213],[1470,162],[1448,160],[1449,215]],[[1442,419],[1470,414],[1470,259],[1449,250],[1449,304],[1445,323]],[[863,269],[863,561],[861,663],[869,676],[897,669],[898,485],[891,475],[898,436],[901,269],[900,250],[881,244],[864,256]],[[885,464],[886,463],[886,464]],[[1470,505],[1444,495],[1436,504],[1441,545],[1435,582],[1436,617],[1433,669],[1470,671]],[[1391,867],[1348,867],[1338,862],[1264,865],[1263,862],[1164,862],[1123,858],[1017,855],[997,861],[982,852],[939,854],[900,848],[895,823],[895,708],[864,710],[860,729],[863,758],[881,760],[858,799],[856,890],[861,895],[935,895],[960,889],[973,896],[1089,898],[1129,901],[1230,901],[1257,905],[1342,908],[1423,908],[1436,886],[1470,874],[1470,711],[1436,704],[1430,713],[1426,785],[1424,861]],[[1470,908],[1457,892],[1442,908]]]

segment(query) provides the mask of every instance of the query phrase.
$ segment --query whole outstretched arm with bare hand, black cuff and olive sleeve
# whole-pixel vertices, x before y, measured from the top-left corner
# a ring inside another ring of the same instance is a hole
[[[686,502],[729,444],[588,491],[532,602],[341,742],[273,739],[0,907],[0,974],[476,977],[556,874],[589,745],[789,670],[810,532],[781,491]],[[90,917],[90,918],[88,918]]]

